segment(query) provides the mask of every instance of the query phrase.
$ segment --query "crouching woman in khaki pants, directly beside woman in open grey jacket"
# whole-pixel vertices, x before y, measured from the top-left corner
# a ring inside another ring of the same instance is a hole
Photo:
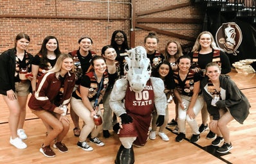
[[[178,106],[178,126],[179,135],[176,142],[181,142],[185,138],[186,122],[192,129],[190,142],[197,142],[200,138],[196,116],[203,108],[203,96],[200,94],[200,75],[190,69],[190,56],[181,56],[178,61],[179,69],[174,72],[176,89],[174,94],[179,102]]]

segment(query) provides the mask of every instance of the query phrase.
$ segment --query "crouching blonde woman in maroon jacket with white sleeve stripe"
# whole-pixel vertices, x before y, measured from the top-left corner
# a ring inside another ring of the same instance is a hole
[[[60,54],[53,69],[41,76],[35,93],[28,102],[32,113],[52,127],[40,149],[46,157],[56,155],[50,147],[53,140],[54,148],[60,152],[68,152],[68,147],[62,143],[62,140],[69,131],[70,122],[66,113],[75,86],[73,69],[72,56]]]

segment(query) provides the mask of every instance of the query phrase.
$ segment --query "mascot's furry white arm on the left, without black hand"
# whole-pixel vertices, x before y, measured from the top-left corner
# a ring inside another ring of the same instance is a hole
[[[128,81],[126,79],[116,80],[110,95],[109,106],[118,117],[126,113],[122,100],[125,97],[127,85]]]

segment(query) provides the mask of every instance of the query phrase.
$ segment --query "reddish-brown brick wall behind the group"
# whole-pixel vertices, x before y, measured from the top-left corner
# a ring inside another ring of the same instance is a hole
[[[131,4],[129,0],[111,1],[68,1],[68,0],[1,0],[0,4],[0,53],[14,46],[14,39],[20,32],[31,38],[28,51],[36,54],[42,40],[54,35],[59,40],[62,53],[78,48],[77,40],[82,35],[93,39],[93,51],[100,54],[104,45],[110,44],[111,35],[116,29],[122,29],[130,37]],[[185,3],[188,0],[138,0],[135,1],[136,13],[170,4]],[[176,10],[152,13],[140,17],[177,17],[199,18],[201,13],[188,6]],[[201,24],[144,23],[145,26],[164,29],[174,33],[197,37]],[[134,29],[135,45],[143,45],[149,31]],[[178,40],[188,44],[187,40],[159,34],[159,50],[163,50],[169,40]],[[130,40],[130,39],[129,39]]]

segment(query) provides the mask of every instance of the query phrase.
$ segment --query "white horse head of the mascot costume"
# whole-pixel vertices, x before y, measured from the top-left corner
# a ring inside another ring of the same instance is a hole
[[[151,62],[144,47],[138,46],[127,51],[124,67],[125,77],[134,92],[142,92],[151,77]]]

